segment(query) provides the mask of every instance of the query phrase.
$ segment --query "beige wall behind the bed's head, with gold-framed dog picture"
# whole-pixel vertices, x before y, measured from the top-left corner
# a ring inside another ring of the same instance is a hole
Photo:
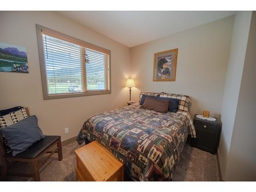
[[[140,91],[185,94],[191,97],[191,115],[208,110],[220,118],[232,29],[233,16],[133,47],[133,99]],[[176,81],[153,82],[154,53],[175,48]]]

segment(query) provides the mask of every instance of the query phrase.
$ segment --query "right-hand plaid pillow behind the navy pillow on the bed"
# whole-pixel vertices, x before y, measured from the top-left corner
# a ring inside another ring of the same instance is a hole
[[[179,99],[179,108],[178,110],[180,111],[188,111],[188,103],[190,101],[189,96],[187,95],[180,95],[180,94],[173,94],[173,93],[160,93],[159,97],[170,97],[170,98],[175,98]]]

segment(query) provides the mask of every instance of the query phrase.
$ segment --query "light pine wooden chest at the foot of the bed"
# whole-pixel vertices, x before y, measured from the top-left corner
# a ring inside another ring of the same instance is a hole
[[[123,181],[123,164],[98,141],[75,151],[78,181]]]

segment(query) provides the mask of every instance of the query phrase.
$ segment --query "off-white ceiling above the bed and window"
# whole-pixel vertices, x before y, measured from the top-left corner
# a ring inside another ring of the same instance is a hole
[[[127,47],[168,36],[236,11],[57,11]]]

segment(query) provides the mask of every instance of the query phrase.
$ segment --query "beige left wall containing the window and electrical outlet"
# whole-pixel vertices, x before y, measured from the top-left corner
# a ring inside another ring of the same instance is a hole
[[[0,109],[27,106],[45,134],[62,140],[78,134],[86,119],[123,106],[129,99],[124,79],[130,72],[130,49],[55,12],[0,12],[0,42],[27,48],[29,74],[0,72]],[[111,50],[112,94],[44,100],[35,24]],[[65,127],[70,133],[64,134]]]

